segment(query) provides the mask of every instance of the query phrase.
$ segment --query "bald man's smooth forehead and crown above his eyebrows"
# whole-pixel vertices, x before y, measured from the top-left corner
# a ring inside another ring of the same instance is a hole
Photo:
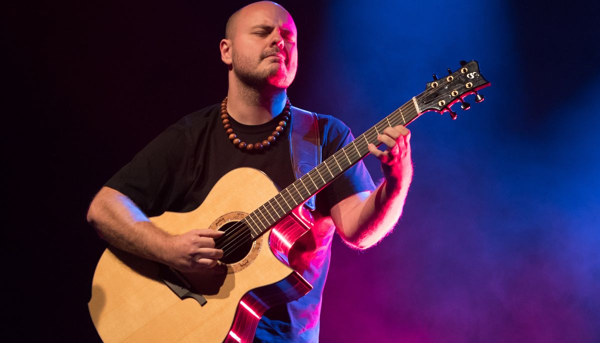
[[[282,7],[271,4],[255,4],[244,8],[238,19],[238,28],[242,30],[255,27],[279,27],[296,34],[296,24]]]

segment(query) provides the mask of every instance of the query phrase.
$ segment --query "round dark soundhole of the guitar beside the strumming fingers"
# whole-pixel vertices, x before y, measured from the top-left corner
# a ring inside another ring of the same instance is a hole
[[[215,239],[215,247],[223,249],[221,262],[236,263],[250,253],[253,243],[250,227],[243,222],[234,221],[224,224],[219,230],[225,232],[223,236]]]

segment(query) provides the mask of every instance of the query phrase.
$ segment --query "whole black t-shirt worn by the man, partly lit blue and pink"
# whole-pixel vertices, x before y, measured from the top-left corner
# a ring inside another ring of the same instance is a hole
[[[271,135],[281,115],[261,125],[244,125],[229,119],[242,141],[256,143]],[[318,121],[323,160],[354,139],[340,120],[318,115]],[[287,131],[269,149],[260,152],[241,150],[228,136],[218,104],[191,113],[152,140],[105,186],[127,195],[146,215],[157,216],[165,211],[196,209],[224,174],[239,167],[262,170],[280,189],[295,180]],[[317,194],[317,211],[329,215],[331,207],[339,201],[374,188],[367,169],[359,162]],[[305,268],[298,272],[313,285],[313,290],[295,302],[266,312],[255,341],[318,340],[321,296],[334,230],[328,225],[323,230],[315,227],[311,231],[314,251],[303,255]]]

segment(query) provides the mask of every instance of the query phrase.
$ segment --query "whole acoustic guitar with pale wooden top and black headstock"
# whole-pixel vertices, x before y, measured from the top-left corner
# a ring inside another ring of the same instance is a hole
[[[424,112],[451,107],[490,85],[476,61],[427,83],[424,92],[356,137],[344,148],[279,191],[261,171],[240,168],[224,175],[200,206],[150,218],[170,234],[209,227],[224,256],[201,273],[181,273],[109,247],[98,261],[88,303],[104,342],[251,342],[272,306],[299,299],[311,285],[288,261],[295,242],[313,227],[305,201],[368,155],[386,127],[408,125]],[[251,194],[232,198],[230,194]]]

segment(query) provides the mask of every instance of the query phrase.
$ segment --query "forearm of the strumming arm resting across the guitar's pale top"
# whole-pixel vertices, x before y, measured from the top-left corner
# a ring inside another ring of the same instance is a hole
[[[89,206],[88,222],[111,245],[141,257],[163,261],[168,233],[148,217],[124,194],[103,187]]]

